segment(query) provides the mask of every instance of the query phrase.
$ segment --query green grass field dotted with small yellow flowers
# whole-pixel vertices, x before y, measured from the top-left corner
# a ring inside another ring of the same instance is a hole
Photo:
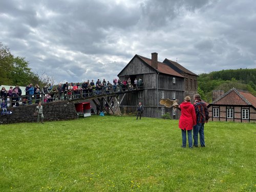
[[[256,191],[256,124],[92,116],[0,125],[0,191]]]

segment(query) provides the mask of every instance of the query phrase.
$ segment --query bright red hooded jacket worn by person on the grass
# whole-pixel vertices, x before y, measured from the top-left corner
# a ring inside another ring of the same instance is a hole
[[[196,112],[194,105],[190,102],[182,102],[180,104],[181,116],[179,121],[180,129],[192,130],[193,125],[197,124]]]

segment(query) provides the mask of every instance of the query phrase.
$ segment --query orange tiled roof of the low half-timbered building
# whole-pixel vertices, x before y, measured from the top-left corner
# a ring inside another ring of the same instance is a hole
[[[252,105],[256,107],[256,97],[251,93],[243,90],[232,88],[220,98],[213,101],[211,104],[223,105]]]

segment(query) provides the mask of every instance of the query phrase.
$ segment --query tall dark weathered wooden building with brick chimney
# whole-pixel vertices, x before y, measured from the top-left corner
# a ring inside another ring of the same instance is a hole
[[[180,111],[166,108],[159,103],[162,98],[184,100],[185,77],[170,67],[168,63],[158,61],[158,54],[152,53],[152,58],[135,55],[132,60],[117,75],[121,81],[131,78],[141,78],[144,87],[135,93],[127,93],[119,103],[124,114],[136,112],[136,106],[141,102],[144,106],[145,117],[160,118],[167,112],[174,119],[180,117]]]

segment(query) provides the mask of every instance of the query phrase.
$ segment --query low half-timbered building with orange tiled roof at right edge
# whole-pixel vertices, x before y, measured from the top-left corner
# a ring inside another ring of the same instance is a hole
[[[212,121],[256,122],[256,97],[232,88],[208,106]]]

